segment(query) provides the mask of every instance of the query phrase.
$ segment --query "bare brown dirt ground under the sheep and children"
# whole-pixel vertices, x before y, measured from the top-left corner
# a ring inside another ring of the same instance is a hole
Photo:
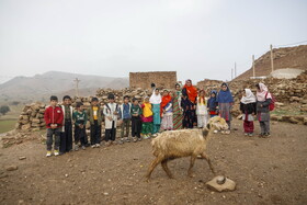
[[[175,179],[159,166],[145,182],[150,139],[52,158],[32,140],[0,149],[0,204],[307,204],[307,126],[273,123],[264,139],[243,136],[240,123],[207,147],[217,172],[237,182],[234,192],[208,190],[204,182],[214,175],[201,159],[195,178],[186,175],[189,159],[182,158],[169,163]],[[11,164],[19,169],[7,171]]]

